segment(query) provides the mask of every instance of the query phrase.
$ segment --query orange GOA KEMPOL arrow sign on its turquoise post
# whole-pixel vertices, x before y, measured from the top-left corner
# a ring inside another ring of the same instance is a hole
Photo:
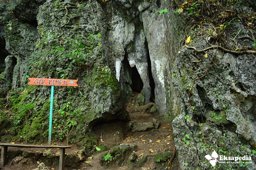
[[[28,78],[28,85],[51,85],[51,102],[50,102],[50,117],[49,117],[49,137],[48,145],[51,145],[52,137],[52,120],[53,120],[53,92],[54,86],[78,86],[77,80],[69,79],[54,79],[54,78]]]

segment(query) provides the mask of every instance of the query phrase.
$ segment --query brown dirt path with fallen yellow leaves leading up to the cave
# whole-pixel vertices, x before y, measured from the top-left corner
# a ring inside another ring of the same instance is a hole
[[[131,123],[133,128],[126,131],[127,125],[123,122],[112,122],[102,125],[97,125],[94,127],[94,132],[98,136],[102,137],[103,142],[106,146],[114,147],[116,144],[136,144],[137,148],[134,152],[138,155],[135,160],[135,164],[139,162],[140,158],[146,157],[146,162],[144,162],[139,167],[133,167],[131,169],[138,170],[163,170],[172,169],[177,170],[179,168],[177,158],[173,165],[170,165],[170,159],[166,162],[155,162],[154,156],[159,153],[170,152],[171,155],[175,152],[174,137],[172,134],[171,124],[166,121],[162,121],[157,113],[150,113],[151,106],[154,103],[149,103],[144,106],[130,106],[126,105],[126,110],[130,114]],[[152,128],[147,131],[134,131],[137,127],[136,125],[148,125],[152,124],[153,119],[159,122],[157,129]],[[135,127],[134,127],[135,126]],[[129,127],[129,125],[128,125]],[[103,165],[99,164],[99,156],[101,153],[94,153],[89,157],[89,165],[85,165],[86,169],[89,170],[126,170],[129,169],[129,165],[126,163],[123,166],[117,165]],[[92,160],[92,158],[94,158]]]

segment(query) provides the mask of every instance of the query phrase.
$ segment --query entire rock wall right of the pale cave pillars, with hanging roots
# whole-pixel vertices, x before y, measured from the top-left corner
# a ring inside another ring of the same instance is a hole
[[[206,155],[212,156],[215,150],[218,161],[219,155],[247,155],[254,160],[251,163],[244,161],[233,164],[219,161],[216,162],[216,169],[255,169],[256,112],[252,104],[256,97],[255,55],[239,55],[216,48],[197,53],[187,47],[200,50],[211,45],[223,45],[232,49],[232,45],[238,44],[239,47],[253,49],[253,41],[237,39],[238,42],[235,42],[227,36],[230,32],[240,30],[239,36],[252,37],[253,40],[256,34],[250,33],[242,20],[236,20],[224,30],[226,34],[220,36],[228,41],[228,45],[221,44],[221,40],[209,42],[207,38],[201,37],[207,37],[207,30],[214,30],[213,27],[207,24],[195,24],[194,28],[186,27],[188,22],[196,23],[195,20],[199,16],[189,16],[184,11],[175,13],[179,9],[177,4],[183,2],[170,3],[171,9],[168,8],[174,13],[167,14],[167,17],[171,18],[168,28],[172,32],[166,36],[169,44],[173,45],[167,49],[171,71],[170,97],[173,99],[170,103],[173,103],[172,109],[177,115],[172,121],[172,127],[180,167],[183,170],[215,168],[205,158]],[[238,5],[238,10],[255,13],[247,6]],[[206,17],[207,15],[203,16]],[[231,17],[226,20],[232,19]],[[200,21],[202,20],[199,19],[198,23]],[[200,30],[197,30],[199,27]],[[197,33],[201,33],[200,36],[197,36]],[[174,37],[170,37],[170,34]],[[193,40],[186,42],[188,36],[193,37]]]

